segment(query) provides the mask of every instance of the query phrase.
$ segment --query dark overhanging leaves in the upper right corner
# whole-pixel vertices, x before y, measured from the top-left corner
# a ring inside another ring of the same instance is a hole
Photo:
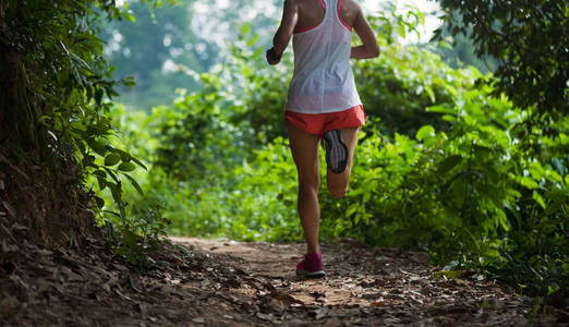
[[[497,92],[505,92],[521,108],[535,107],[533,119],[568,113],[567,2],[443,0],[440,7],[452,35],[469,36],[480,57],[499,60]],[[435,38],[441,32],[435,32]]]

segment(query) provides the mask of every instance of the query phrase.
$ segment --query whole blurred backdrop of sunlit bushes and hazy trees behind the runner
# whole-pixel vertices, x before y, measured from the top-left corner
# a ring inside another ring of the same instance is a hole
[[[223,11],[233,32],[220,44],[189,28],[191,10],[131,8],[138,25],[107,34],[108,47],[120,44],[109,50],[119,75],[134,73],[140,84],[112,109],[113,142],[149,170],[131,173],[144,193],[124,191],[128,216],[167,221],[172,234],[302,240],[282,123],[292,56],[275,68],[264,60],[278,13],[235,28],[233,11]],[[492,74],[499,60],[476,56],[469,29],[443,25],[434,41],[405,41],[424,20],[415,9],[370,16],[382,55],[352,62],[368,120],[348,195],[320,191],[322,238],[426,251],[447,269],[564,299],[569,120],[558,110],[555,120],[526,124],[540,111],[507,97]]]

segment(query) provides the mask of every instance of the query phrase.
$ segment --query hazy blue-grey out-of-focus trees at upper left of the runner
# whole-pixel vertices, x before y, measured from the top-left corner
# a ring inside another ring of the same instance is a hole
[[[129,20],[101,21],[99,36],[114,76],[134,77],[132,89],[119,88],[119,99],[136,109],[170,104],[174,90],[198,90],[201,84],[182,66],[203,73],[225,60],[227,45],[249,22],[265,41],[275,25],[279,0],[196,1],[175,0],[159,10],[134,1],[124,5]],[[268,27],[268,28],[267,28]]]

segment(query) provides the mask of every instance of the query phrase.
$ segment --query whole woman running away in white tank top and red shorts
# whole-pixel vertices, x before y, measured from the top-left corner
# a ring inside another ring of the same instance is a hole
[[[363,45],[351,46],[352,28]],[[379,46],[355,0],[284,0],[282,21],[267,51],[269,64],[280,62],[293,35],[294,74],[284,121],[299,173],[298,209],[307,244],[296,275],[324,277],[318,245],[318,145],[324,138],[328,190],[340,198],[348,191],[358,132],[365,121],[350,58],[377,57]]]

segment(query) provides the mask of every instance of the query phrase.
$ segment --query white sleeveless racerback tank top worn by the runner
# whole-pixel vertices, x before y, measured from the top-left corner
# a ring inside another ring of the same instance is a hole
[[[340,17],[341,0],[320,3],[326,12],[322,23],[295,33],[292,39],[294,74],[286,106],[289,111],[337,112],[362,104],[350,65],[352,31]]]

